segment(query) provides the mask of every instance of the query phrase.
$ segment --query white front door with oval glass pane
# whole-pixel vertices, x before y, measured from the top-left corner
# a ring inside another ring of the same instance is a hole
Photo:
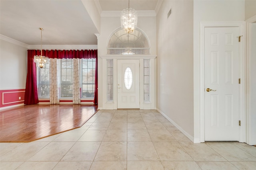
[[[117,60],[117,108],[140,108],[140,60]]]

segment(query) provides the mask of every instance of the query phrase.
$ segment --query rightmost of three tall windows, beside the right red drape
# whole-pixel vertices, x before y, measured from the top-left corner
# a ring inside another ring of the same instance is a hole
[[[82,59],[82,98],[94,98],[96,59]]]

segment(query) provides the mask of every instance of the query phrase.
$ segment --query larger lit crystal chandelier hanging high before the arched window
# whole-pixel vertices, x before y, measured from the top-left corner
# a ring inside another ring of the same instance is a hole
[[[130,0],[128,2],[128,8],[121,12],[121,27],[125,29],[127,33],[132,33],[137,27],[138,15],[137,12],[130,8]]]

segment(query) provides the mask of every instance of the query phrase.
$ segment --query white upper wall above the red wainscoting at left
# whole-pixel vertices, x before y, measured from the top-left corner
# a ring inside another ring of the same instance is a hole
[[[0,89],[26,87],[27,48],[0,40]]]

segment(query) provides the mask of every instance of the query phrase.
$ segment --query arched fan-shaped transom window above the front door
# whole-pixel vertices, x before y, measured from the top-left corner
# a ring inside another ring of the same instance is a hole
[[[149,55],[150,45],[147,37],[139,29],[126,33],[123,29],[116,31],[109,39],[108,55]]]

